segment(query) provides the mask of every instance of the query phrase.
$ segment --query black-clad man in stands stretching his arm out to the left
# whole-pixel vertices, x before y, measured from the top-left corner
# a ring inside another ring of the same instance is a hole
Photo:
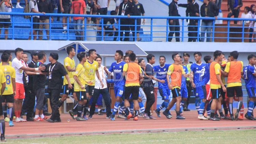
[[[187,4],[178,4],[178,6],[186,7],[186,16],[199,17],[199,5],[195,0],[187,0]],[[188,22],[188,42],[197,41],[197,19],[187,19]]]

